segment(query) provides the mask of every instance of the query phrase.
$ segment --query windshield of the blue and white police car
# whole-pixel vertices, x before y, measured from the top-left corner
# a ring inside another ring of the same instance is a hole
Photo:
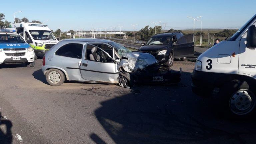
[[[20,35],[0,35],[0,43],[25,43]]]

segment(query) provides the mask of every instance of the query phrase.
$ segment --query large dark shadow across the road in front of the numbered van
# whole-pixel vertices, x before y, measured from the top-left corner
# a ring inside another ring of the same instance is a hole
[[[220,119],[207,100],[191,92],[190,75],[183,72],[177,85],[138,86],[103,101],[95,116],[117,144],[254,143],[255,120]]]

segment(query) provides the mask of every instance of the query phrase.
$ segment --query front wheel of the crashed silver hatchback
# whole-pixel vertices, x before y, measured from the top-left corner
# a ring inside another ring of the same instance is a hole
[[[133,80],[131,80],[129,73],[120,73],[118,76],[118,85],[124,88],[131,88],[134,85]]]

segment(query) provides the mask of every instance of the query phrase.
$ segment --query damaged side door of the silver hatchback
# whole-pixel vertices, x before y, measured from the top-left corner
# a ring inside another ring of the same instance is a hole
[[[110,46],[105,43],[94,44],[95,43],[88,43],[84,48],[83,59],[80,65],[80,71],[83,79],[99,83],[118,83],[117,78],[119,76],[119,71],[117,63],[105,54],[105,52],[108,51],[109,55],[114,58],[113,47],[110,48]],[[100,48],[100,46],[102,47]],[[97,47],[97,53],[104,54],[104,57],[107,60],[97,61],[90,59],[93,47]]]

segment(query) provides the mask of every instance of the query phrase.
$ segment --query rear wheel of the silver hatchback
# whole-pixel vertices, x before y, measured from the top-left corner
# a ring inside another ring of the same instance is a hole
[[[45,77],[48,84],[52,86],[59,86],[63,84],[64,81],[66,80],[64,73],[58,69],[50,69],[46,73]]]

